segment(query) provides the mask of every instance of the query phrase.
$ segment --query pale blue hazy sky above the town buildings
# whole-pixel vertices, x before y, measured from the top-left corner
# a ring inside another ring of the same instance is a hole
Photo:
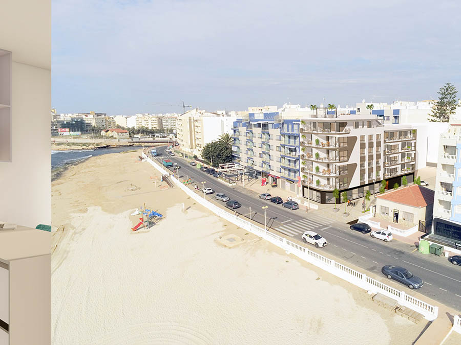
[[[52,0],[52,106],[343,107],[446,82],[461,97],[460,22],[458,0]]]

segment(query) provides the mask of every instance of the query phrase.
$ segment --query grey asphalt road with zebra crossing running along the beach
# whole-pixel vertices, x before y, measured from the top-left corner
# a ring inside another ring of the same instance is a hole
[[[414,245],[397,240],[386,243],[373,239],[369,234],[363,235],[350,230],[346,223],[325,219],[317,215],[315,211],[310,211],[309,214],[301,209],[291,211],[282,208],[282,205],[259,199],[257,193],[241,187],[227,186],[213,175],[205,174],[196,167],[190,166],[182,158],[164,153],[164,149],[163,147],[157,148],[162,155],[156,158],[160,161],[161,158],[168,158],[177,163],[181,167],[178,170],[181,179],[190,177],[200,188],[201,182],[205,181],[205,187],[211,187],[215,193],[225,193],[229,198],[238,200],[242,207],[235,210],[237,213],[249,217],[251,208],[252,219],[264,225],[262,206],[267,205],[266,224],[271,231],[289,235],[294,242],[299,241],[311,250],[320,254],[328,253],[379,275],[383,275],[381,268],[384,265],[403,266],[424,281],[423,287],[417,292],[461,310],[461,266],[452,265],[444,257],[420,254],[415,250]],[[215,200],[215,193],[206,195],[206,199],[221,203]],[[315,231],[324,237],[328,245],[315,248],[313,245],[304,244],[300,233],[302,230],[298,231],[304,225],[307,226],[305,230]],[[411,291],[408,287],[395,281],[387,283],[406,292]]]

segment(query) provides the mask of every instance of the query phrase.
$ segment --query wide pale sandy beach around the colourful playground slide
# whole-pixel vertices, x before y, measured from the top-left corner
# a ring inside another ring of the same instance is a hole
[[[139,154],[91,157],[52,182],[55,344],[411,344],[424,329],[162,189]],[[144,203],[164,217],[132,232]]]

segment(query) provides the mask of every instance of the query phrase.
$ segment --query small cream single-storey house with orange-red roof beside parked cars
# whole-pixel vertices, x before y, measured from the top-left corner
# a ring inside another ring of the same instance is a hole
[[[376,217],[404,226],[414,226],[420,220],[432,224],[434,191],[410,185],[376,196]]]

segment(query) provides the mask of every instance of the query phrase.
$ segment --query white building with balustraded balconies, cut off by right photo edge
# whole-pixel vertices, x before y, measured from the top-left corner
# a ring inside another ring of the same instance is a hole
[[[450,119],[438,152],[433,222],[425,239],[461,253],[461,120]]]

